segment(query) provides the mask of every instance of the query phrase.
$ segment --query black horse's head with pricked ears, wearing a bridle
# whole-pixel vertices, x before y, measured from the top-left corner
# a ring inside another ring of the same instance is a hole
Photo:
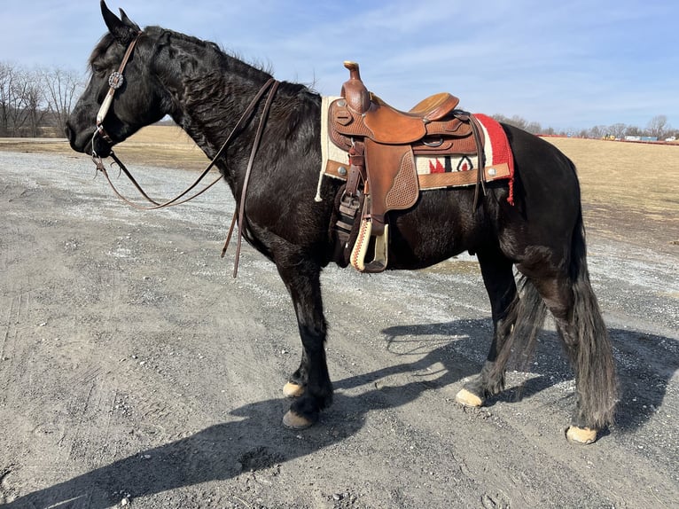
[[[101,12],[108,33],[92,51],[90,82],[66,121],[66,136],[75,151],[106,157],[113,145],[165,116],[167,92],[150,71],[149,36],[122,9],[120,18],[109,11],[104,0]]]

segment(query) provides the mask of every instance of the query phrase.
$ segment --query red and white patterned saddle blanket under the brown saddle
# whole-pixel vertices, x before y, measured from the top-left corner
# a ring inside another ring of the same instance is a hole
[[[320,191],[323,176],[331,176],[342,180],[347,179],[348,154],[332,143],[328,136],[328,108],[336,99],[324,97],[321,110],[321,153],[323,162],[318,181]],[[510,194],[507,200],[513,203],[514,159],[511,155],[509,140],[502,126],[494,119],[484,114],[474,114],[483,129],[484,153],[486,165],[483,168],[484,180],[509,180]],[[439,157],[416,156],[418,181],[421,190],[442,189],[475,185],[479,169],[479,158],[476,155],[467,156],[450,154]],[[320,201],[319,193],[316,200]]]

